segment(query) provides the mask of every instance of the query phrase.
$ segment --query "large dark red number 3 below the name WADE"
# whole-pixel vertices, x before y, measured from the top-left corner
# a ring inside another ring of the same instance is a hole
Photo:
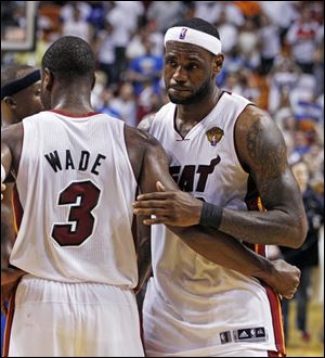
[[[69,223],[55,223],[52,238],[61,246],[80,245],[93,232],[96,207],[101,190],[90,180],[72,182],[58,196],[58,205],[69,205]]]

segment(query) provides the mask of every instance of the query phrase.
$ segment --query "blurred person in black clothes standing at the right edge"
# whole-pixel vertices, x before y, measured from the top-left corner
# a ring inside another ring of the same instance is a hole
[[[313,267],[318,265],[318,236],[320,229],[324,225],[324,197],[316,193],[309,186],[309,169],[303,161],[299,161],[291,165],[291,170],[298,181],[299,188],[303,195],[304,209],[308,217],[309,230],[307,239],[301,247],[292,250],[289,247],[280,246],[283,258],[297,266],[301,270],[300,285],[295,295],[297,302],[296,324],[301,332],[301,338],[310,341],[308,329],[308,302],[309,287],[311,284],[311,276]],[[283,299],[283,316],[286,340],[289,338],[289,302]]]

